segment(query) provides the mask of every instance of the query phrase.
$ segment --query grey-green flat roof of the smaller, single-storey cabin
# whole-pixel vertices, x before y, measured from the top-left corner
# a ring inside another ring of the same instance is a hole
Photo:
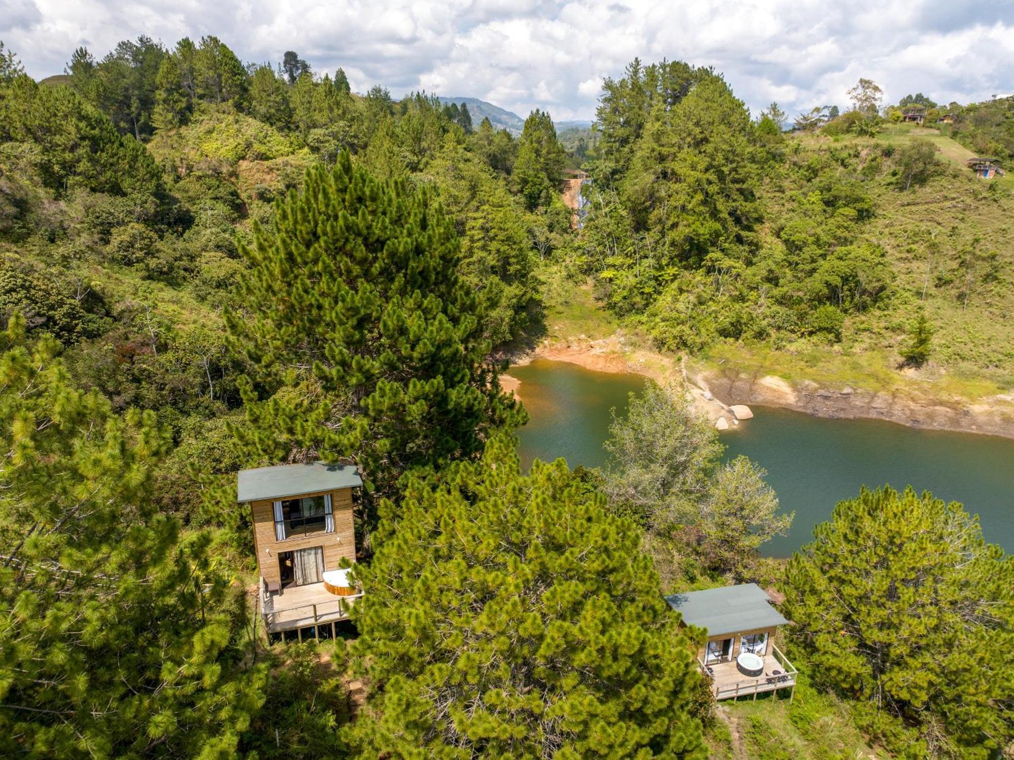
[[[789,622],[772,607],[768,595],[756,584],[673,594],[665,601],[683,616],[684,623],[707,628],[709,636]]]

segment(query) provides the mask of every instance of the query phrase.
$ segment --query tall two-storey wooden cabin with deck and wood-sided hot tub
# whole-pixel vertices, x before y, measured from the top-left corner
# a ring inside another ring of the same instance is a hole
[[[259,603],[270,639],[331,638],[361,597],[348,565],[356,558],[353,488],[346,464],[283,464],[241,470],[236,500],[249,504],[260,573]],[[346,565],[343,567],[342,565]]]

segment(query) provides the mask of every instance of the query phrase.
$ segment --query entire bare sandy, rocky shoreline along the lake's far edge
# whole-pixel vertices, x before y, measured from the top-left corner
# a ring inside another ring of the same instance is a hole
[[[897,392],[849,386],[823,388],[811,381],[793,384],[775,375],[749,375],[735,368],[723,372],[706,369],[687,372],[681,359],[628,346],[621,333],[598,340],[582,336],[567,344],[547,341],[533,351],[506,358],[510,366],[524,366],[536,359],[546,359],[570,362],[596,372],[643,375],[658,383],[679,377],[684,381],[695,406],[712,422],[724,416],[729,423],[729,430],[738,426],[729,407],[754,403],[831,420],[880,420],[917,430],[1014,439],[1014,395],[990,397],[976,402],[932,396],[917,399]],[[501,375],[504,390],[514,392],[523,402],[522,394],[518,392],[520,385],[520,381],[510,375],[509,368]]]

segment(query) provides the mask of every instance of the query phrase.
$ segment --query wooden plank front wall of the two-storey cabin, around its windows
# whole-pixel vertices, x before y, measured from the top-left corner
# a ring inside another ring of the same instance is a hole
[[[327,491],[300,493],[300,497],[317,497]],[[275,539],[275,507],[273,501],[250,502],[254,516],[254,548],[257,551],[258,567],[268,583],[281,583],[282,572],[278,566],[278,555],[283,551],[305,549],[310,546],[323,547],[323,568],[338,569],[342,557],[356,558],[356,534],[352,525],[352,488],[331,491],[331,509],[335,514],[335,532],[310,533],[293,536],[284,541]]]

